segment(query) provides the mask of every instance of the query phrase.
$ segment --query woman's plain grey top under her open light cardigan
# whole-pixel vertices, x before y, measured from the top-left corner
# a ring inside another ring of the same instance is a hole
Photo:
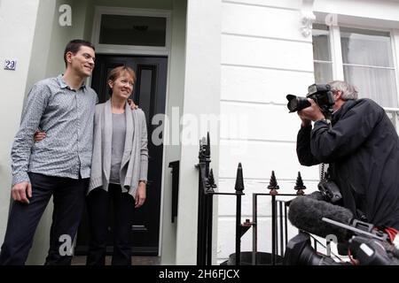
[[[121,171],[121,158],[125,146],[126,118],[125,113],[113,113],[113,145],[111,150],[111,174],[109,182],[120,184],[119,172]]]

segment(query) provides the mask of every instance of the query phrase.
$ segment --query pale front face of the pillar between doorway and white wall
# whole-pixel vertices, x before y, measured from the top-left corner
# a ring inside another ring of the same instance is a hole
[[[187,1],[183,116],[193,115],[199,123],[201,114],[220,113],[221,9],[221,0]],[[191,130],[183,126],[182,135]],[[219,134],[210,134],[211,145],[214,145],[211,166],[217,178],[218,146],[215,142],[219,142]],[[202,135],[206,133],[201,132],[198,138]],[[198,144],[182,145],[176,264],[196,264],[197,261],[198,171],[194,164],[198,163],[198,152]]]

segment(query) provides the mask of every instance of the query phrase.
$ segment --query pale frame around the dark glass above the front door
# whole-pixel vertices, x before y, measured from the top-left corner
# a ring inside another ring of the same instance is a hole
[[[120,45],[120,44],[100,44],[99,35],[101,28],[102,15],[121,15],[121,16],[141,16],[159,17],[166,19],[165,46],[144,46],[144,45]],[[169,56],[171,46],[171,11],[168,10],[149,10],[136,8],[106,7],[96,6],[93,22],[91,42],[96,46],[97,53],[103,54],[135,54],[135,55],[154,55]]]

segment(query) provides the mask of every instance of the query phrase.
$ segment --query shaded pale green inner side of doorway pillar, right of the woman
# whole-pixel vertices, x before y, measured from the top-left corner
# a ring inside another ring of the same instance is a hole
[[[187,18],[186,3],[173,0],[172,11],[172,44],[169,57],[168,72],[168,108],[164,131],[164,166],[162,184],[162,204],[160,223],[160,264],[176,263],[176,221],[171,223],[172,216],[172,174],[168,167],[170,162],[180,160],[179,145],[180,114],[184,102],[184,65],[185,65],[185,27]]]

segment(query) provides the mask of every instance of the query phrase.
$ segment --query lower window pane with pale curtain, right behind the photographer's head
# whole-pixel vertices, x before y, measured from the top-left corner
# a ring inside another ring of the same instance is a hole
[[[345,80],[359,91],[359,97],[372,98],[383,107],[398,107],[395,71],[344,65]]]

